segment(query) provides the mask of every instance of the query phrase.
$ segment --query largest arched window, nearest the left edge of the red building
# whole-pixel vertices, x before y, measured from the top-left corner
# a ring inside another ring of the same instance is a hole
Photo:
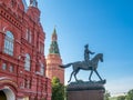
[[[13,34],[10,31],[7,31],[4,38],[4,53],[13,56]]]

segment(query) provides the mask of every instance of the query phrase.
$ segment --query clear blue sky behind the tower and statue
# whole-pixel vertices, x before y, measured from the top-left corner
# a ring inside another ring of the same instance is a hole
[[[111,93],[133,89],[133,1],[132,0],[38,0],[45,31],[45,56],[57,26],[63,63],[83,60],[84,44],[104,53],[98,71]],[[92,56],[93,58],[93,56]],[[65,70],[65,83],[71,68]],[[88,80],[90,71],[80,71]],[[95,80],[94,76],[94,80]]]

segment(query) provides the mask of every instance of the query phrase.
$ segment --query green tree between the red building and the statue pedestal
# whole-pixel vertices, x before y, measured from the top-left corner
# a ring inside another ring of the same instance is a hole
[[[64,100],[64,86],[57,77],[52,79],[52,100]]]

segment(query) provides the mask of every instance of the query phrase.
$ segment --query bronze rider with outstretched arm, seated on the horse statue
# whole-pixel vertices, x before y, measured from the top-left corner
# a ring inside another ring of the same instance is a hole
[[[94,52],[89,50],[89,44],[85,44],[84,48],[85,48],[84,49],[84,61],[86,63],[89,63],[90,62],[90,54],[94,54]]]

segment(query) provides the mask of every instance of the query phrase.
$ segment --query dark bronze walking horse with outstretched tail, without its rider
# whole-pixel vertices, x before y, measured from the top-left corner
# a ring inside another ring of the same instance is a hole
[[[89,77],[90,81],[92,81],[91,77],[92,77],[93,71],[96,73],[96,76],[102,81],[102,78],[100,77],[99,72],[96,71],[99,60],[101,62],[103,62],[103,53],[98,53],[92,60],[89,60],[88,62],[86,61],[76,61],[76,62],[72,62],[72,63],[68,63],[68,64],[62,64],[59,67],[61,67],[61,68],[69,68],[70,66],[73,67],[73,71],[72,71],[72,73],[70,76],[70,80],[68,82],[71,81],[73,74],[74,74],[75,81],[78,81],[76,74],[80,70],[91,70],[91,73]]]

